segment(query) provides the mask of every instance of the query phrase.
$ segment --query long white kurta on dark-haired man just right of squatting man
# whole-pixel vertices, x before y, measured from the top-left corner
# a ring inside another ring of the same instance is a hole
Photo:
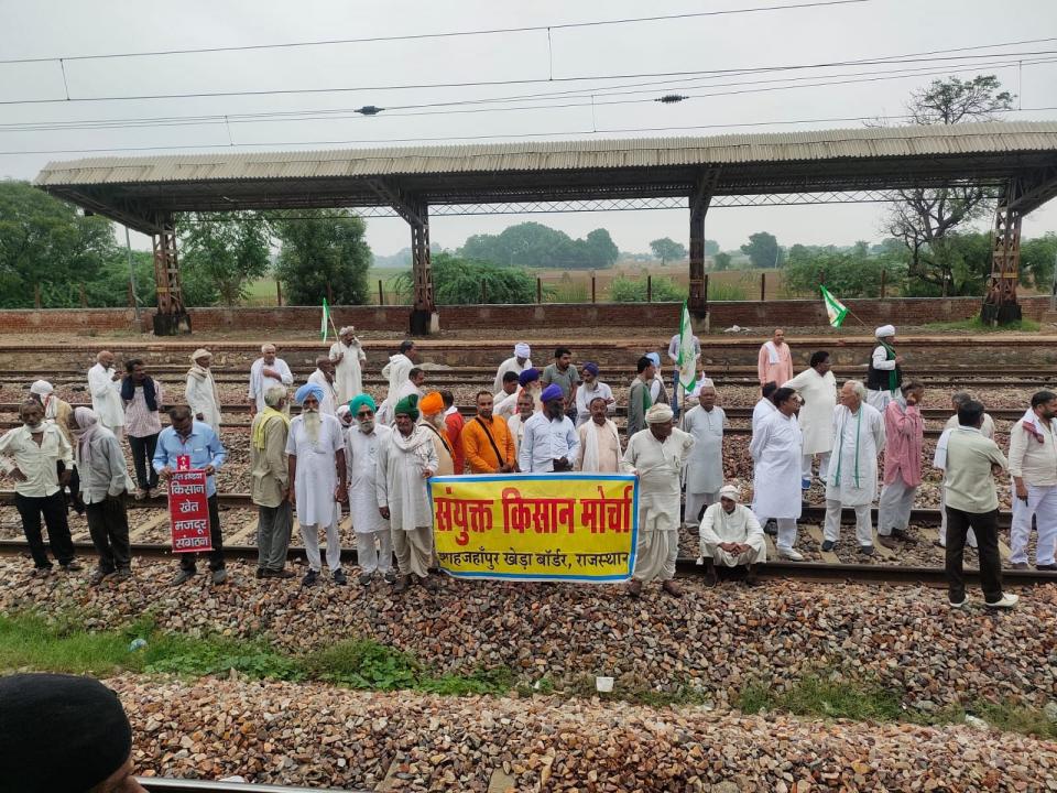
[[[752,435],[752,511],[758,518],[800,517],[800,448],[796,416],[775,410]]]

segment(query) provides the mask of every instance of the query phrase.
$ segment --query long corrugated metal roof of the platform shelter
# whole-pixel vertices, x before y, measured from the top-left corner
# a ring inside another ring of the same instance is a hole
[[[708,166],[848,159],[1057,152],[1057,122],[994,121],[708,138],[519,141],[330,151],[89,157],[51,162],[40,186],[230,180],[368,177],[400,174]]]

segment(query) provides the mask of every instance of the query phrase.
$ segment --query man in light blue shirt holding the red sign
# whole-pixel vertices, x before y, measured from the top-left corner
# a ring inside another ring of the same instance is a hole
[[[190,408],[176,405],[168,411],[170,426],[157,436],[154,450],[154,470],[165,481],[179,471],[204,471],[206,475],[206,496],[209,514],[209,569],[213,583],[222,584],[228,579],[224,564],[224,534],[220,532],[220,510],[217,504],[217,481],[215,474],[224,465],[228,453],[220,445],[220,438],[213,428],[195,421]],[[172,485],[170,485],[172,489]],[[188,552],[179,555],[179,573],[173,579],[173,586],[189,580],[195,575],[197,554]]]

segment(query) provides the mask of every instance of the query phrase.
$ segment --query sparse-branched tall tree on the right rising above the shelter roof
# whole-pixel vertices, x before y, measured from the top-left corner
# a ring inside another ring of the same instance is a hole
[[[911,95],[907,111],[918,124],[987,121],[1013,107],[1013,95],[1000,89],[994,75],[937,79]],[[969,185],[901,191],[900,197],[889,210],[885,228],[909,252],[909,276],[933,284],[941,295],[951,294],[955,271],[963,262],[958,246],[945,246],[942,240],[991,211],[994,192]]]

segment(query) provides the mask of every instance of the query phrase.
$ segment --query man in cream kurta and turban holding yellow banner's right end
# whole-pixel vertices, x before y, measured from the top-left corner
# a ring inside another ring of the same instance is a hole
[[[694,438],[673,427],[672,408],[646,411],[647,428],[635,433],[624,450],[622,468],[639,477],[639,543],[628,594],[639,597],[642,585],[658,578],[672,597],[683,593],[675,582],[679,554],[679,497],[683,466]]]

